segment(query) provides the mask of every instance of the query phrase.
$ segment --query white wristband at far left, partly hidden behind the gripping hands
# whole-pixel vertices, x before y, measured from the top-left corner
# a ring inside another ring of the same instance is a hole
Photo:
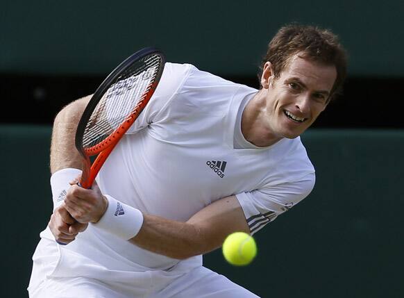
[[[70,181],[73,181],[81,174],[80,169],[60,169],[51,176],[51,189],[53,199],[53,210],[60,206],[65,200],[67,190],[70,188]]]

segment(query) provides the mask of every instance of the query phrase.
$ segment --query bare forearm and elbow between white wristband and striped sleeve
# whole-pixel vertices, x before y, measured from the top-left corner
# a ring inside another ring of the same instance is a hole
[[[187,222],[144,215],[135,245],[171,258],[190,258],[221,247],[226,236],[235,231],[250,233],[243,210],[235,196],[206,206]]]

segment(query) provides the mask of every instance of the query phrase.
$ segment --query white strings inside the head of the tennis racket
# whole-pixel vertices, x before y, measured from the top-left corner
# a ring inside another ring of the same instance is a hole
[[[83,135],[83,148],[96,146],[108,138],[142,103],[158,76],[162,59],[146,56],[130,65],[103,94],[92,113]]]

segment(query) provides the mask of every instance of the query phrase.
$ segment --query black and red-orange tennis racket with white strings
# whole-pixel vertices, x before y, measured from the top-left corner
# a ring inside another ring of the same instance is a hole
[[[94,92],[76,131],[76,148],[83,156],[81,187],[91,188],[111,151],[149,103],[164,65],[165,56],[158,49],[142,49]]]

